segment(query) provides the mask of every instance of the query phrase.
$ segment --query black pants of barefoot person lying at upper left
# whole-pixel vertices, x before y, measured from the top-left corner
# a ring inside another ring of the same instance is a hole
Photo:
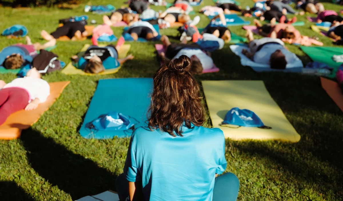
[[[68,38],[72,38],[75,36],[77,31],[81,33],[84,32],[85,26],[80,22],[68,22],[61,27],[58,27],[55,32],[52,32],[50,35],[54,38],[59,38],[61,36],[68,36]]]

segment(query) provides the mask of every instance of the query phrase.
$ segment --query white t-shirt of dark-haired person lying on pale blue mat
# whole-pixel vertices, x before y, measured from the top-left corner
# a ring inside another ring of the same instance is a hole
[[[259,51],[257,51],[253,57],[253,61],[260,64],[270,64],[269,58],[276,50],[281,50],[285,55],[287,63],[293,63],[296,59],[296,55],[286,50],[282,45],[276,43],[265,44]]]

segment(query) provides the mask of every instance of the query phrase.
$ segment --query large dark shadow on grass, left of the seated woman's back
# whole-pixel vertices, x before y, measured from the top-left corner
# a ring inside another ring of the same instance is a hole
[[[23,130],[21,140],[35,171],[73,200],[115,189],[116,176],[90,159],[69,151],[38,131]]]

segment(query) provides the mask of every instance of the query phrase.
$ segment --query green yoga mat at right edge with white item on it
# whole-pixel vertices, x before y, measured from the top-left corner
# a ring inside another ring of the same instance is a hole
[[[341,55],[343,54],[343,48],[339,47],[306,47],[301,46],[301,50],[303,50],[313,61],[321,62],[327,64],[328,66],[333,68],[332,73],[327,76],[329,78],[334,78],[339,66],[342,62],[335,62],[332,59],[333,55]]]

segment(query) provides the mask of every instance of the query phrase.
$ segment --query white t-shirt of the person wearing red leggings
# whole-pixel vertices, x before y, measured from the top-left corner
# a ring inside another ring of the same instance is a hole
[[[11,87],[25,89],[29,95],[29,102],[31,102],[31,100],[38,98],[39,102],[43,103],[50,95],[50,85],[44,79],[32,77],[16,78],[7,85],[5,85],[3,88]]]

